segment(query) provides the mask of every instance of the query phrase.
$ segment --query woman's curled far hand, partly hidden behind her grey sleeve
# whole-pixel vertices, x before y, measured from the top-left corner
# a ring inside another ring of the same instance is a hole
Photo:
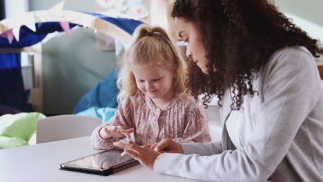
[[[155,143],[149,146],[151,149],[155,150],[156,152],[165,152],[165,153],[178,153],[183,154],[182,145],[173,141],[172,139],[162,139],[159,143]]]

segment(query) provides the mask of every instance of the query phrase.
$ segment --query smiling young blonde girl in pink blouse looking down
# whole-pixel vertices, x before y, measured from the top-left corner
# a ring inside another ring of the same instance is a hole
[[[177,142],[211,142],[206,117],[185,87],[187,65],[168,34],[142,25],[126,51],[117,81],[121,92],[115,116],[92,132],[98,149],[134,132],[135,143],[153,144],[164,138]]]

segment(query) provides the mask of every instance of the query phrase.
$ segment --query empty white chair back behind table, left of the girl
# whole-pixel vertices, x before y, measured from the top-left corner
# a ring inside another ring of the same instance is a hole
[[[101,124],[97,117],[59,115],[37,120],[36,143],[90,136]]]

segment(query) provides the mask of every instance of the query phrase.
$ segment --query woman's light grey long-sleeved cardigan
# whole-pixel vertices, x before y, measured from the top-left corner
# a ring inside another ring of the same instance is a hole
[[[226,92],[222,141],[182,143],[184,154],[160,154],[155,172],[205,181],[323,181],[323,88],[309,50],[276,51],[260,72],[258,91],[257,124],[243,148],[226,130]]]

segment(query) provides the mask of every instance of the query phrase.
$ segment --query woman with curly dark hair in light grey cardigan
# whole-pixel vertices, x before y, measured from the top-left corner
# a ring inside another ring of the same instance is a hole
[[[317,41],[266,0],[177,0],[172,15],[202,70],[190,67],[189,88],[222,105],[222,141],[115,145],[155,172],[190,179],[323,181]]]

